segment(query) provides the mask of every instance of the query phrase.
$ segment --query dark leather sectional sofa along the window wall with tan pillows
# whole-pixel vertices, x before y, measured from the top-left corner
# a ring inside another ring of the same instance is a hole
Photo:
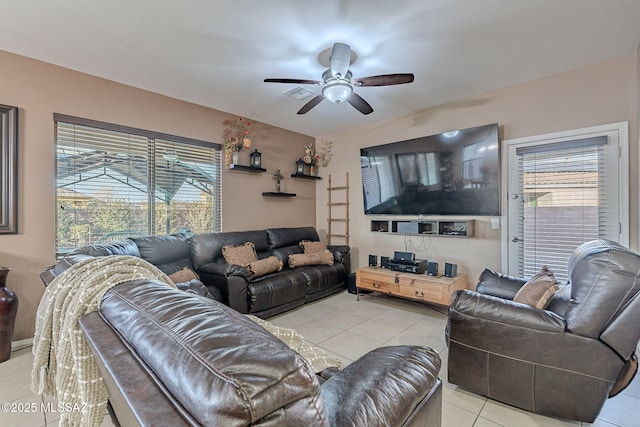
[[[185,267],[195,270],[199,281],[179,287],[222,301],[241,313],[267,318],[314,301],[346,287],[350,269],[349,246],[329,246],[333,265],[290,268],[288,256],[303,252],[300,242],[319,241],[313,227],[285,227],[194,236],[135,237],[117,242],[85,246],[41,274],[45,284],[84,256],[130,255],[140,257],[167,274]],[[284,268],[275,273],[252,277],[239,265],[227,264],[222,248],[253,242],[259,259],[275,255]]]

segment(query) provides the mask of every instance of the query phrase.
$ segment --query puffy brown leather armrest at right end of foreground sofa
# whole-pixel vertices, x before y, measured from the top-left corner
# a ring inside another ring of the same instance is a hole
[[[372,350],[322,384],[329,424],[440,426],[439,371],[440,357],[430,348]]]

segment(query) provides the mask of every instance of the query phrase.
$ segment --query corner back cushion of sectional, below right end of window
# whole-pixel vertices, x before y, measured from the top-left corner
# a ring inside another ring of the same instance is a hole
[[[185,234],[131,238],[140,251],[140,257],[166,274],[183,268],[192,268],[189,241]]]

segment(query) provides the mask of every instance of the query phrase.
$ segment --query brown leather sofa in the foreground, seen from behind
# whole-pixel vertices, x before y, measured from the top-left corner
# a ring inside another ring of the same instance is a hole
[[[441,425],[427,348],[383,347],[316,375],[237,311],[147,280],[112,288],[80,323],[119,425]]]

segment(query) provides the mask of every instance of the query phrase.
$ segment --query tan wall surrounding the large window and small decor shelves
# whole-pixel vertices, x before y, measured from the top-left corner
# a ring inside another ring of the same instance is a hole
[[[0,103],[19,107],[19,233],[0,235],[0,265],[13,267],[8,287],[20,300],[13,339],[21,340],[33,335],[35,311],[44,291],[39,274],[55,262],[53,113],[211,142],[221,142],[222,121],[231,116],[2,51]],[[304,145],[312,141],[284,129],[260,126],[253,146],[263,153],[268,173],[223,174],[226,231],[315,224],[315,186],[289,178]],[[275,191],[271,174],[278,168],[287,177],[282,191],[298,197],[261,196]]]

